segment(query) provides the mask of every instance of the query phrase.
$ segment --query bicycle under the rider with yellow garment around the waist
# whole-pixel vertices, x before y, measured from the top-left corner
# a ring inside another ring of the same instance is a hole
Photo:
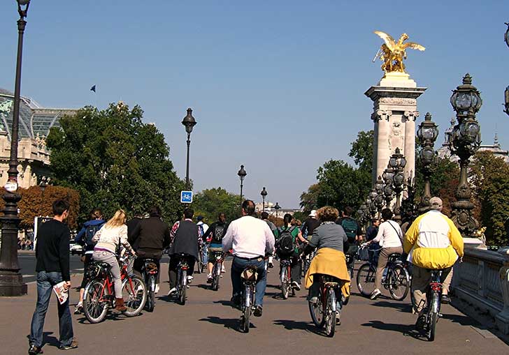
[[[320,279],[318,280],[320,282],[320,292],[316,303],[308,301],[311,319],[317,328],[324,328],[325,334],[332,338],[336,331],[336,315],[340,315],[343,308],[343,301],[340,296],[342,281],[331,275],[315,274],[313,278]],[[336,294],[339,296],[336,296]]]

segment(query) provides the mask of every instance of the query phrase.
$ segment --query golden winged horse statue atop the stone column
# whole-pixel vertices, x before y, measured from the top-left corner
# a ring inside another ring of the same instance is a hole
[[[419,43],[405,43],[405,41],[408,40],[408,34],[406,33],[403,33],[397,42],[385,32],[375,31],[375,34],[380,36],[385,42],[375,56],[375,59],[380,58],[380,60],[384,62],[382,64],[382,70],[385,71],[385,73],[406,73],[403,59],[406,59],[407,48],[420,51],[426,50],[426,48]],[[373,61],[375,61],[375,59],[373,59]]]

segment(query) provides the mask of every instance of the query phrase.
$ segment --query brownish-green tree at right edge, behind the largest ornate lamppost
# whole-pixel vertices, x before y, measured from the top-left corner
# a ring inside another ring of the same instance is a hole
[[[504,225],[509,218],[509,165],[492,152],[475,154],[469,180],[480,203],[480,224],[486,227],[487,243],[507,246]]]

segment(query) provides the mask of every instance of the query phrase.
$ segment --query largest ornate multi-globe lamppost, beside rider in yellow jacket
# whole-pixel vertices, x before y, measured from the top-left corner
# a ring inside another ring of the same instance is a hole
[[[467,73],[463,78],[463,84],[453,91],[451,105],[456,111],[457,125],[452,130],[451,152],[458,156],[459,185],[456,190],[457,202],[452,204],[452,221],[458,227],[463,236],[472,236],[479,223],[472,216],[474,208],[471,202],[472,192],[467,181],[468,160],[479,149],[480,125],[475,119],[475,114],[482,106],[482,99],[478,89],[472,85],[472,77]]]

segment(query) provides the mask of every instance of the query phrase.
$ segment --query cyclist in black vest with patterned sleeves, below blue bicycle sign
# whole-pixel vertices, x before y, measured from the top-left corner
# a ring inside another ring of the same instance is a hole
[[[187,263],[189,266],[189,275],[187,280],[192,280],[194,270],[194,263],[198,259],[198,226],[193,222],[194,216],[193,209],[187,208],[184,210],[182,220],[175,222],[171,229],[173,241],[171,243],[168,254],[170,255],[170,263],[168,266],[168,273],[170,278],[170,292],[171,296],[177,291],[177,266],[180,261],[180,255],[188,255]]]

